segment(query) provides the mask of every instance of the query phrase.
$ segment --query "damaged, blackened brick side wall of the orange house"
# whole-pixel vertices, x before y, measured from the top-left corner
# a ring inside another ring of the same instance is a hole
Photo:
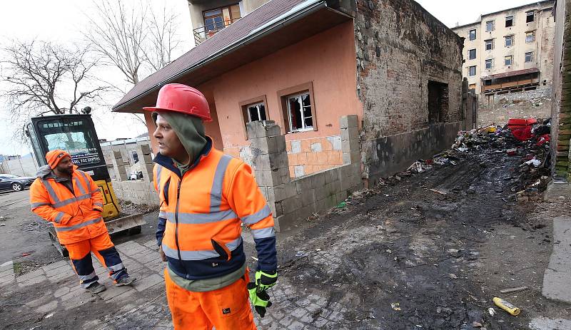
[[[414,133],[410,143],[430,152],[448,144],[452,134],[445,131],[456,130],[458,125],[450,123],[461,120],[463,40],[415,1],[358,0],[346,8],[355,16],[363,177],[375,180],[421,156],[385,153],[385,144],[391,143],[386,137]],[[429,81],[448,84],[448,109],[443,108],[438,124],[429,122]]]

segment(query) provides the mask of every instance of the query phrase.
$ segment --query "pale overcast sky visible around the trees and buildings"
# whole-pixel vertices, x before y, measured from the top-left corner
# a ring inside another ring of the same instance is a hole
[[[122,0],[125,1],[125,0]],[[136,0],[135,0],[136,1]],[[191,24],[187,0],[152,0],[153,6],[163,3],[179,13],[179,34],[183,49],[191,46]],[[472,23],[480,14],[530,4],[527,0],[418,0],[425,9],[449,27]],[[2,1],[0,11],[0,47],[7,46],[11,39],[49,40],[60,43],[81,41],[81,27],[86,15],[92,15],[91,0],[18,0]],[[181,53],[182,51],[181,50]],[[109,72],[107,72],[109,71]],[[103,71],[108,81],[128,87],[116,71]],[[111,97],[108,103],[114,104],[118,96]],[[0,104],[0,120],[6,130],[0,130],[0,154],[29,153],[26,145],[14,143],[11,139],[14,129],[10,126],[9,113]],[[146,132],[146,128],[133,120],[130,115],[109,114],[106,108],[94,111],[94,121],[99,138],[133,138]]]

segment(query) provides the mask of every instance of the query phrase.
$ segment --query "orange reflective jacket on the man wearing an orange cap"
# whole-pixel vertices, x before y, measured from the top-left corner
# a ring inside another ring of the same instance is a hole
[[[94,180],[74,166],[72,193],[45,167],[30,187],[31,210],[54,224],[59,242],[70,244],[106,233],[101,217],[103,196]]]

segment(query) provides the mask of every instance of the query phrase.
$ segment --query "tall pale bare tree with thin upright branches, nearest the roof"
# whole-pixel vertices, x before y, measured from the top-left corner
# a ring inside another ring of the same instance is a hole
[[[94,6],[97,14],[89,17],[84,36],[128,83],[138,83],[141,70],[156,71],[172,61],[180,43],[176,14],[163,8],[162,17],[157,17],[148,10],[148,2],[128,9],[121,0],[96,0]]]

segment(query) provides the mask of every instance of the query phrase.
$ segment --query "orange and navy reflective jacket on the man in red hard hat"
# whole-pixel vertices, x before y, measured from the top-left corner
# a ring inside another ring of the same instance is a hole
[[[235,272],[246,262],[241,223],[248,225],[258,250],[258,269],[277,269],[273,217],[251,167],[212,148],[181,177],[171,158],[154,160],[155,189],[161,200],[158,244],[169,268],[186,279],[208,279]]]

